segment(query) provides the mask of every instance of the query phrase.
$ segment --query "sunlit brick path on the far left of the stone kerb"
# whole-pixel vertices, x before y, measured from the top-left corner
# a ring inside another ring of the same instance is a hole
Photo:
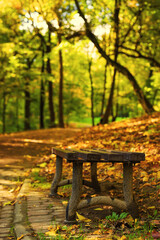
[[[9,163],[10,159],[3,159]],[[12,164],[16,160],[12,160]],[[0,164],[0,240],[13,236],[14,205],[16,189],[21,188],[20,178],[24,176],[24,169],[15,165]]]

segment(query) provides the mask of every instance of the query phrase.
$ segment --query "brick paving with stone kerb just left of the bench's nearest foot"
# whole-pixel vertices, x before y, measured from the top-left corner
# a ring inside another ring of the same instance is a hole
[[[36,234],[45,233],[56,223],[63,223],[65,208],[58,199],[51,199],[44,192],[31,187],[30,180],[24,181],[18,194],[14,210],[16,238],[37,239]]]

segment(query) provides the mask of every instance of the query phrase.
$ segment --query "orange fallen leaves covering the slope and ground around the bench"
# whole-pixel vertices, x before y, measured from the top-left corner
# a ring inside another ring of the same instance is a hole
[[[134,222],[130,215],[124,219],[107,220],[106,216],[115,210],[108,206],[90,207],[78,211],[77,214],[83,224],[83,230],[86,229],[85,231],[91,235],[98,234],[101,237],[105,235],[104,239],[160,239],[160,113],[82,129],[75,137],[61,143],[58,147],[64,149],[102,148],[145,153],[146,160],[134,166],[133,187],[140,210],[140,220]],[[45,156],[41,161],[46,161],[47,165],[41,169],[40,174],[46,175],[48,181],[51,181],[56,168],[55,156]],[[67,162],[64,164],[63,178],[70,179],[72,165]],[[90,165],[84,165],[83,174],[89,180]],[[123,197],[120,187],[123,180],[122,164],[99,163],[98,180],[118,186],[118,189],[109,190],[110,196]],[[61,187],[59,194],[62,196],[62,201],[66,201],[71,194],[71,188]],[[85,197],[96,195],[87,187],[84,187],[83,194]],[[105,194],[105,189],[103,194]],[[69,231],[70,234],[73,232],[76,235],[81,230],[76,226],[75,231],[75,227],[72,226]],[[51,231],[55,234],[55,229]],[[89,239],[85,231],[83,235],[85,239]],[[59,232],[61,232],[60,229]],[[130,235],[133,235],[133,238],[127,237]]]

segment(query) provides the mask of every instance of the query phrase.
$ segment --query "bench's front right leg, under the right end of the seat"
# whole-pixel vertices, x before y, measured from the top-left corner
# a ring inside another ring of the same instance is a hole
[[[128,212],[135,219],[139,217],[138,207],[133,196],[133,166],[132,163],[123,163],[123,192]]]

